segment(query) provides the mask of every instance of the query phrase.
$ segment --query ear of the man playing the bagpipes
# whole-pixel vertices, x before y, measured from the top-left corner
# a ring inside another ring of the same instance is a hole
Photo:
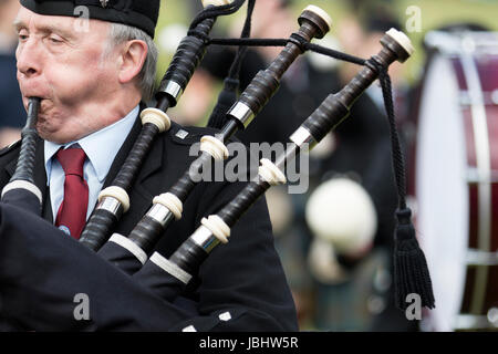
[[[147,58],[147,44],[144,41],[133,40],[124,44],[121,52],[120,83],[128,83],[138,75]]]

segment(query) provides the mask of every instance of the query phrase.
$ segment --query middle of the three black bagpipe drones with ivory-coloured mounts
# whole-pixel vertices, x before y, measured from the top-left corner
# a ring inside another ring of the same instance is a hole
[[[200,139],[200,156],[169,191],[154,198],[153,206],[127,238],[116,233],[111,237],[111,242],[100,250],[104,258],[129,273],[142,267],[167,226],[174,219],[181,218],[183,204],[196,186],[196,180],[201,179],[199,176],[205,170],[205,166],[210,165],[211,160],[224,160],[228,157],[225,143],[238,129],[248,126],[277,92],[286,70],[299,54],[303,53],[300,42],[309,42],[314,37],[322,38],[329,30],[331,20],[319,8],[309,7],[302,12],[299,22],[300,29],[292,34],[282,52],[267,70],[256,75],[240,98],[227,112],[227,123],[224,124],[220,133],[216,137],[207,135]],[[82,242],[86,242],[86,239]],[[123,250],[116,251],[116,247]],[[125,257],[123,251],[128,257]]]

